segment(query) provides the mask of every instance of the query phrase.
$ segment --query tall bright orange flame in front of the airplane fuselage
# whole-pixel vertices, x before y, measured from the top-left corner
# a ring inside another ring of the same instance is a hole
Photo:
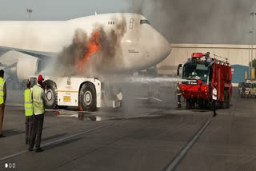
[[[99,38],[99,31],[96,30],[90,37],[89,42],[86,45],[87,48],[87,54],[85,55],[84,58],[78,63],[78,70],[80,73],[82,73],[83,67],[86,66],[86,63],[90,59],[90,56],[96,53],[98,50],[102,49],[102,46],[98,43],[98,38]]]

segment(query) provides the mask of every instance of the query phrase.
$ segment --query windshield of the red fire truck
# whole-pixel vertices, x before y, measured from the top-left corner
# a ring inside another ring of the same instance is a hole
[[[207,83],[208,67],[204,64],[186,63],[183,67],[183,79],[200,79],[203,84]]]

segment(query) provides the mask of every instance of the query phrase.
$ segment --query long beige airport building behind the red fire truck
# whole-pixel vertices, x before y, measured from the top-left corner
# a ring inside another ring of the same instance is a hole
[[[171,46],[170,55],[158,64],[158,74],[176,75],[178,64],[184,64],[194,52],[210,52],[212,58],[214,54],[227,58],[232,67],[233,83],[243,82],[248,74],[248,66],[252,57],[251,45],[171,44]],[[254,46],[253,54],[256,55],[256,46]]]

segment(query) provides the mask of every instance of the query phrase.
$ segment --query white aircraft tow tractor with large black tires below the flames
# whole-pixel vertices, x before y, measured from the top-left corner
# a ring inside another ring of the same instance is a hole
[[[31,85],[37,77],[30,77]],[[46,109],[78,107],[83,111],[95,111],[102,107],[117,108],[122,105],[122,93],[112,94],[97,78],[52,78],[45,77]]]

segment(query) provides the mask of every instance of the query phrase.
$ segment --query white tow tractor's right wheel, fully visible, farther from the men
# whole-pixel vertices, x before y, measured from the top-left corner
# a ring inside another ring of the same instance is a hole
[[[94,84],[86,82],[79,92],[79,104],[84,111],[93,112],[96,109],[96,89]]]

